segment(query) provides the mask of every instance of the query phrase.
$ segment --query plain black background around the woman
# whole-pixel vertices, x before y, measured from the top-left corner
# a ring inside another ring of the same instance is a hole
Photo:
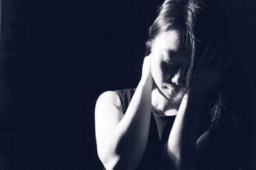
[[[162,2],[1,0],[1,169],[102,169],[95,102],[136,87]],[[220,4],[254,96],[256,3]]]

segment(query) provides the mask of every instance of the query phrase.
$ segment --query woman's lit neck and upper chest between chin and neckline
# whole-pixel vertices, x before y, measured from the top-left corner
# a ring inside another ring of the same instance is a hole
[[[162,96],[157,89],[152,91],[152,107],[158,115],[173,116],[177,115],[180,102],[173,103]]]

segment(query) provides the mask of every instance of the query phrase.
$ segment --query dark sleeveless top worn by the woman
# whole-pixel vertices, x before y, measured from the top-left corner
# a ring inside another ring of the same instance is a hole
[[[115,91],[122,102],[123,113],[127,110],[135,90],[136,89],[124,89]],[[157,115],[152,109],[148,142],[137,169],[159,169],[163,148],[168,140],[175,117],[176,116]]]

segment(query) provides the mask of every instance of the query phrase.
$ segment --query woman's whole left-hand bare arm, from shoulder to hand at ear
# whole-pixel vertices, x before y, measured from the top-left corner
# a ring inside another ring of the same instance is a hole
[[[148,57],[127,111],[115,92],[102,94],[95,107],[98,155],[106,169],[135,169],[145,151],[151,111],[152,76]]]

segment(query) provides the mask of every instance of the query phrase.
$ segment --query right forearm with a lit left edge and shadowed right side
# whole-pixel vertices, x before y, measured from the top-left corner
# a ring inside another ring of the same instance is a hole
[[[189,94],[184,97],[164,148],[162,169],[195,169],[196,138],[203,109],[198,96]]]

